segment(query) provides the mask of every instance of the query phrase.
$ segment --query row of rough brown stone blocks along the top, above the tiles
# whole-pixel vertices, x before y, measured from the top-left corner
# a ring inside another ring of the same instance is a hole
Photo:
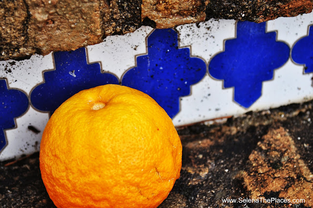
[[[74,50],[141,25],[210,18],[264,22],[309,13],[313,0],[0,0],[0,60]]]

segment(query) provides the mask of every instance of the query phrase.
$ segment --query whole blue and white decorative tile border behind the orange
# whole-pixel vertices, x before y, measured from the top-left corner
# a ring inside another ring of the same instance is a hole
[[[98,85],[148,93],[176,126],[313,99],[312,24],[311,13],[141,27],[75,51],[2,61],[0,160],[38,151],[49,115]]]

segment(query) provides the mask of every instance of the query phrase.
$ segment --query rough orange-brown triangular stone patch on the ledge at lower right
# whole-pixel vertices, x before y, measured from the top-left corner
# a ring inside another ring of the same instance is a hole
[[[276,193],[277,199],[304,199],[305,206],[313,207],[313,174],[284,128],[271,129],[247,164],[242,177],[251,199]]]

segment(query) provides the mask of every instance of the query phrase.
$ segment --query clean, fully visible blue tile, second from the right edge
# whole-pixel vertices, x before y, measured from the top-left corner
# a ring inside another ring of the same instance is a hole
[[[238,22],[236,39],[227,40],[225,51],[209,64],[211,76],[223,79],[224,88],[234,87],[234,100],[245,108],[261,96],[262,82],[289,59],[289,46],[265,31],[266,23]]]

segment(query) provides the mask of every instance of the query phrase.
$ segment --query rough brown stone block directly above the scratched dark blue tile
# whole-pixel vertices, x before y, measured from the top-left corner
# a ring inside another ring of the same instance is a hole
[[[29,8],[28,43],[40,54],[74,50],[102,42],[98,0],[25,0]]]

